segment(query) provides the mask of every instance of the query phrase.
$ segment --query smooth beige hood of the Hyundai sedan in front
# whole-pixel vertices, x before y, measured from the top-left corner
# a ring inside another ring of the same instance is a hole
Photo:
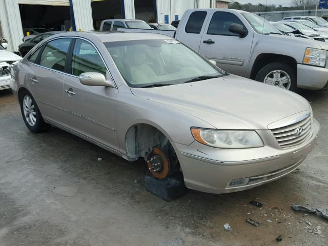
[[[236,75],[131,91],[202,119],[216,129],[267,130],[272,122],[309,112],[303,97]]]

